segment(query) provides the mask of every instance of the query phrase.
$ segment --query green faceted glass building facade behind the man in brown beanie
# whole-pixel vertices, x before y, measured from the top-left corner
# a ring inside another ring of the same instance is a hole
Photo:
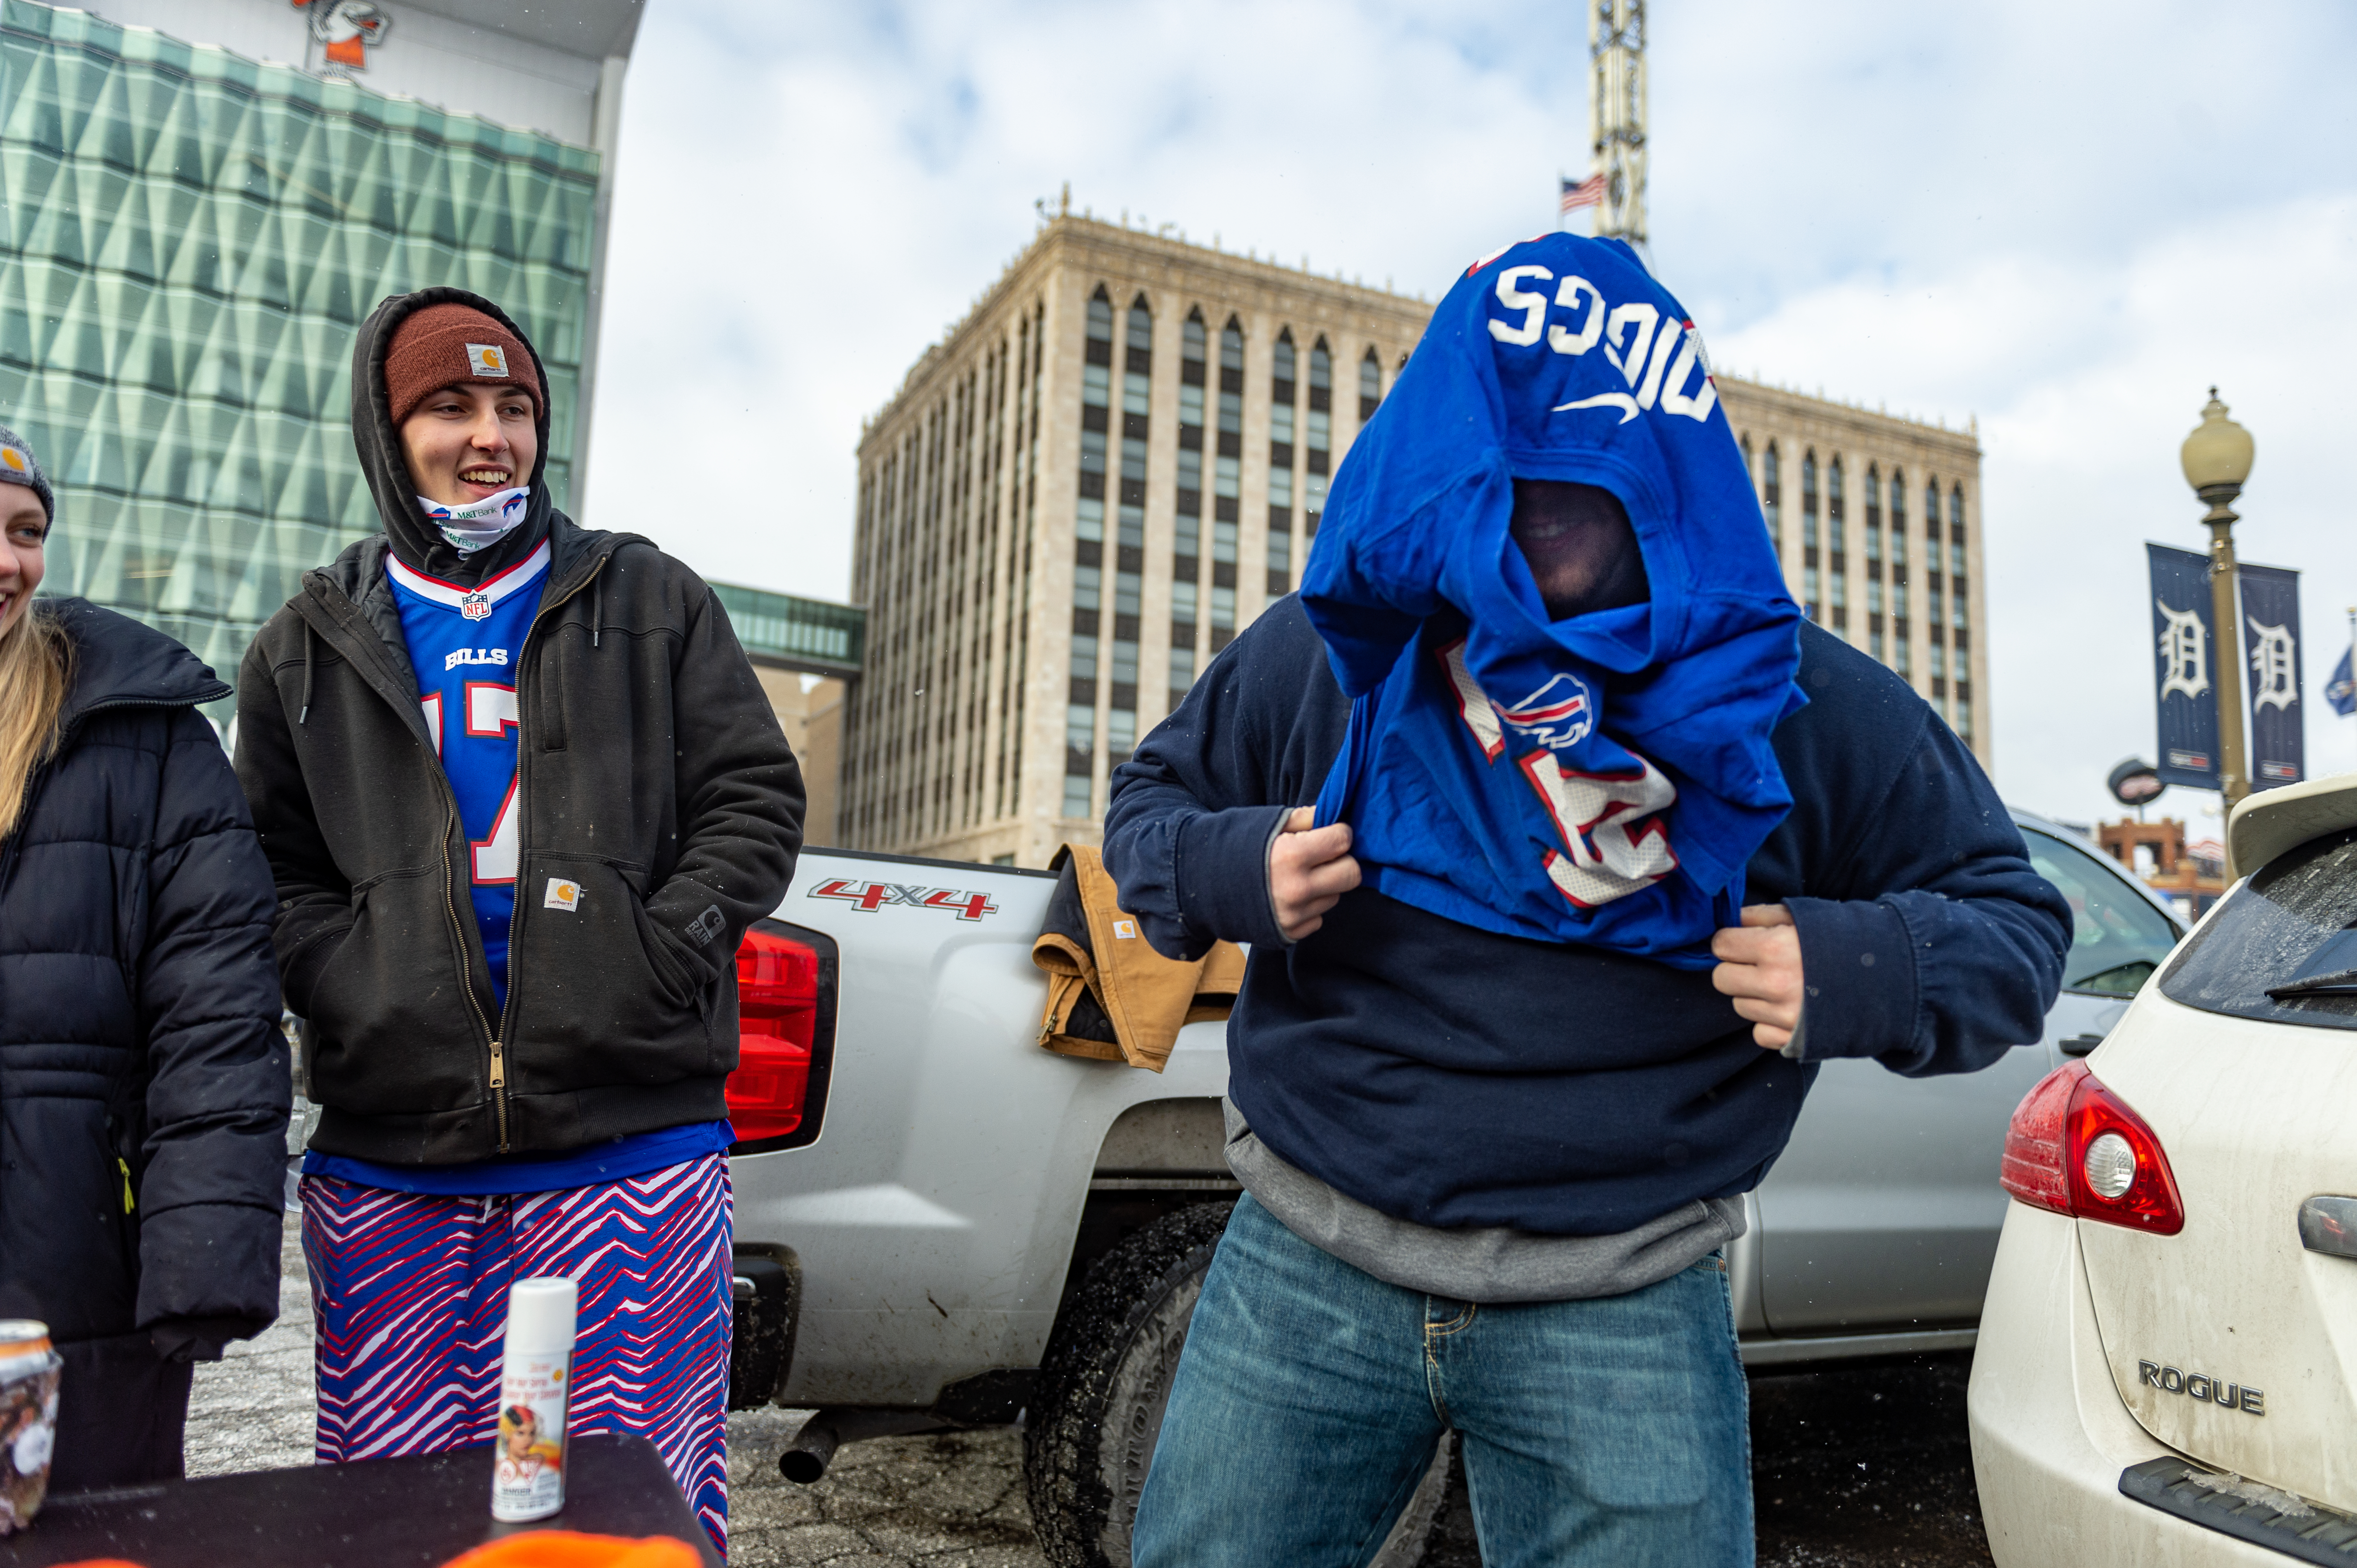
[[[438,283],[540,348],[566,506],[596,193],[599,153],[554,137],[0,0],[0,424],[57,483],[45,591],[233,678],[302,572],[379,527],[354,334]]]

